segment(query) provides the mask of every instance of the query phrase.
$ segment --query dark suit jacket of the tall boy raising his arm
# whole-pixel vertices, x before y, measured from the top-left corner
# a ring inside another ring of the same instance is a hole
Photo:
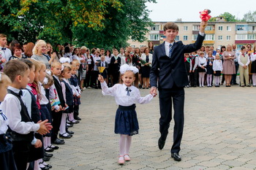
[[[184,63],[184,53],[192,53],[200,49],[203,39],[204,36],[198,34],[197,40],[193,44],[184,45],[183,42],[175,42],[173,44],[171,58],[165,54],[165,42],[162,45],[154,47],[150,72],[151,87],[173,88],[173,84],[177,87],[189,85]]]

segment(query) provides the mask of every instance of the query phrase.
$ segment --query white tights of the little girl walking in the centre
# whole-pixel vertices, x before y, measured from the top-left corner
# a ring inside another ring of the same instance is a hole
[[[120,155],[128,154],[131,143],[132,143],[132,136],[129,136],[127,134],[121,134],[120,141],[119,141],[119,154]]]

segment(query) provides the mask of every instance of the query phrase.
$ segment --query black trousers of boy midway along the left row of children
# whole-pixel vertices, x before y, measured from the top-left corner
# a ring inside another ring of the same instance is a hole
[[[61,117],[62,117],[62,111],[55,112],[53,110],[53,129],[51,134],[51,142],[54,142],[57,139],[58,133],[59,133],[59,126],[61,125]]]

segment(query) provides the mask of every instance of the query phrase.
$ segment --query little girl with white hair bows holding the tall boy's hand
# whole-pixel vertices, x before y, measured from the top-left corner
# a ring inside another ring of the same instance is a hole
[[[121,165],[124,164],[124,161],[130,161],[128,153],[132,135],[138,134],[139,130],[135,103],[147,104],[154,97],[151,94],[141,97],[138,88],[132,85],[135,81],[135,74],[138,71],[135,66],[124,64],[120,67],[121,83],[114,85],[112,88],[108,88],[101,75],[98,77],[102,87],[102,94],[114,96],[116,104],[119,105],[116,111],[115,134],[121,134],[119,142],[120,155],[118,158],[118,163]]]

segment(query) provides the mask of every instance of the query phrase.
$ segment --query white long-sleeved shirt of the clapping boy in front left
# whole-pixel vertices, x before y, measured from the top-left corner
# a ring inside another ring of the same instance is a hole
[[[12,88],[11,86],[9,86],[8,89],[12,90],[14,93],[20,92],[20,89]],[[37,123],[21,121],[21,106],[20,101],[16,96],[7,93],[0,108],[7,115],[7,118],[9,119],[9,127],[12,131],[17,132],[18,134],[29,134],[31,131],[37,131],[39,129],[39,124]]]

